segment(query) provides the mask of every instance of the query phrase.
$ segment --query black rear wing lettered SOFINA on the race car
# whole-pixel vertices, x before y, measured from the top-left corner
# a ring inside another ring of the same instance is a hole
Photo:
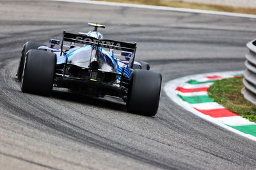
[[[127,52],[132,52],[133,54],[135,54],[135,51],[136,51],[136,43],[118,42],[114,40],[99,40],[97,38],[93,38],[92,36],[76,35],[73,33],[66,33],[65,31],[63,31],[61,51],[63,48],[64,41],[81,43],[84,45],[93,45],[93,46],[103,47],[107,49],[124,50]]]

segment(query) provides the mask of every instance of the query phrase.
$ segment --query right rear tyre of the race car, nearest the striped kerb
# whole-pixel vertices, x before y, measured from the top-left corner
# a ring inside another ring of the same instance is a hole
[[[162,75],[148,70],[134,70],[127,100],[127,110],[135,114],[155,116],[157,113]]]

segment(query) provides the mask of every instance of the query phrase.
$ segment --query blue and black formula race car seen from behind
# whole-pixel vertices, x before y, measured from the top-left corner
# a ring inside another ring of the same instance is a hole
[[[154,116],[161,74],[150,71],[148,63],[134,60],[136,43],[106,40],[97,31],[105,26],[89,25],[94,30],[88,33],[63,31],[62,40],[51,39],[49,47],[25,43],[17,72],[21,90],[49,96],[54,86],[84,96],[109,95],[122,98],[129,112]]]

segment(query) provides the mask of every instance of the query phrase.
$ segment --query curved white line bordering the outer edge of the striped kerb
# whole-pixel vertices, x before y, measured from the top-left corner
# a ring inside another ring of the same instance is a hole
[[[176,91],[175,91],[175,88],[177,88],[177,86],[180,86],[180,84],[182,84],[184,82],[187,82],[191,79],[196,80],[200,77],[206,77],[206,76],[211,76],[211,75],[221,75],[222,77],[224,77],[224,76],[230,77],[230,75],[236,75],[236,74],[239,74],[239,73],[242,73],[242,72],[244,72],[244,71],[241,70],[241,71],[234,71],[234,72],[214,72],[214,73],[203,73],[203,74],[196,74],[196,75],[188,75],[188,76],[180,77],[178,79],[174,79],[172,81],[167,82],[164,86],[164,91],[165,91],[166,95],[173,100],[173,102],[180,105],[180,107],[186,109],[187,111],[192,112],[196,116],[198,116],[200,118],[203,118],[207,121],[210,121],[211,123],[214,123],[216,125],[219,125],[220,127],[226,128],[227,130],[230,130],[230,131],[232,131],[236,134],[242,135],[244,137],[252,139],[253,141],[256,141],[255,136],[249,135],[249,134],[244,134],[243,132],[241,132],[239,130],[236,130],[232,127],[228,127],[227,126],[228,124],[227,125],[223,124],[223,123],[230,123],[230,121],[228,121],[227,119],[226,120],[225,119],[222,119],[222,120],[219,119],[221,121],[218,121],[218,119],[216,119],[216,118],[212,118],[211,116],[207,116],[205,114],[202,114],[202,112],[196,111],[195,109],[193,109],[193,107],[191,107],[191,104],[188,104],[188,102],[184,102],[181,98],[179,98],[177,96]],[[237,117],[239,117],[237,119],[241,119],[240,116],[237,116]],[[234,124],[239,124],[239,120],[236,121],[236,122],[237,123],[234,123]],[[244,122],[247,122],[247,121],[244,120],[243,123]],[[232,124],[232,123],[230,123],[230,124]]]

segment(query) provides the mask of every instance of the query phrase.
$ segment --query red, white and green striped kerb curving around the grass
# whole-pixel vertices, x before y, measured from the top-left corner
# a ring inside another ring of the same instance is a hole
[[[256,141],[256,123],[225,109],[222,105],[214,102],[207,94],[207,89],[214,81],[230,77],[241,77],[243,72],[188,75],[167,82],[164,86],[164,91],[173,102],[196,116]]]

